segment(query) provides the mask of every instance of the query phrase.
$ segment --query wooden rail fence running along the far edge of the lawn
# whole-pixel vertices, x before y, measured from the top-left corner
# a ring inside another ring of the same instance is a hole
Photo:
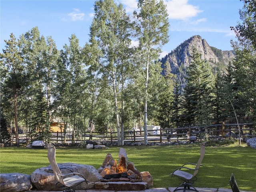
[[[239,129],[238,129],[239,125]],[[196,127],[183,127],[183,128],[170,128],[170,129],[157,129],[151,131],[148,135],[148,142],[166,142],[172,140],[188,140],[191,136],[196,136],[198,139],[205,138],[208,134],[208,138],[238,138],[240,131],[241,138],[256,137],[256,128],[253,123],[241,123],[241,124],[214,124]],[[13,135],[12,142],[15,141],[15,135]],[[20,143],[29,143],[28,134],[20,134]],[[66,143],[72,142],[72,132],[52,132],[51,137],[54,143]],[[80,135],[75,136],[75,143],[94,140],[94,141],[106,141],[116,142],[117,132],[83,132]],[[125,131],[124,142],[143,142],[144,131]]]

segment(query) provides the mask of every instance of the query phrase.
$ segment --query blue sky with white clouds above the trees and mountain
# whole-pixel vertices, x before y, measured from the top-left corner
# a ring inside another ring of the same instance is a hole
[[[127,14],[137,10],[137,0],[114,0],[122,3]],[[40,35],[52,36],[58,50],[69,44],[75,34],[83,47],[89,40],[95,0],[0,0],[0,52],[13,33],[18,39],[34,27]],[[240,20],[240,0],[164,0],[169,14],[169,42],[162,47],[160,58],[182,42],[200,35],[210,46],[232,50],[236,40],[230,26]]]

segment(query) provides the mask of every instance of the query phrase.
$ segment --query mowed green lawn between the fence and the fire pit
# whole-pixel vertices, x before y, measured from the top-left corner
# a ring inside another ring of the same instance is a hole
[[[184,163],[196,163],[200,156],[200,145],[180,146],[124,146],[128,160],[136,168],[150,172],[153,188],[176,187],[181,183],[176,177],[168,176]],[[98,169],[106,154],[118,160],[120,147],[108,149],[56,148],[57,163],[72,162],[92,165]],[[256,150],[246,144],[238,146],[207,146],[198,172],[195,187],[230,188],[229,180],[234,173],[240,190],[256,191]],[[47,149],[26,147],[4,147],[0,149],[0,173],[31,174],[34,170],[48,166]]]

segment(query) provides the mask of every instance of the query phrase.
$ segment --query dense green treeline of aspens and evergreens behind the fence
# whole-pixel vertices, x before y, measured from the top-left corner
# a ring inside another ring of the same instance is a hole
[[[162,0],[139,0],[133,18],[114,0],[96,1],[83,47],[72,34],[58,50],[38,27],[18,39],[10,34],[0,54],[1,142],[10,138],[7,127],[16,128],[16,138],[23,128],[48,141],[51,122],[60,122],[73,137],[94,126],[111,129],[123,145],[124,131],[134,126],[143,126],[146,133],[150,124],[206,126],[230,116],[255,115],[256,44],[245,27],[255,25],[255,7],[254,1],[244,2],[243,22],[231,28],[238,39],[231,42],[236,59],[226,70],[213,73],[193,49],[182,94],[179,77],[166,70],[168,63],[161,68],[158,59],[170,28]],[[144,140],[147,144],[147,134]]]

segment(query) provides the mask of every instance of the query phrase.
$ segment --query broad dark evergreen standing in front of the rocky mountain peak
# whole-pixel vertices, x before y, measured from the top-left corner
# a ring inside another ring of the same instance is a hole
[[[193,49],[184,94],[188,125],[205,125],[207,128],[207,124],[211,123],[213,119],[212,101],[215,98],[214,84],[215,77],[210,65],[201,60],[201,54]]]

